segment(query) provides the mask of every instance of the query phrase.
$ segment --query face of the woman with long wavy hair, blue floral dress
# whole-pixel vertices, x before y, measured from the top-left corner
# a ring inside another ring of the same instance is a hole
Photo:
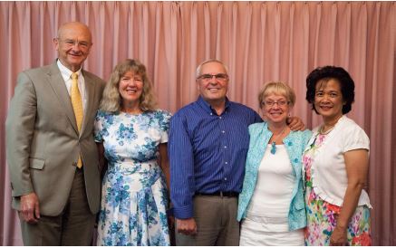
[[[139,105],[140,96],[143,91],[142,77],[132,71],[125,72],[120,79],[119,91],[122,106]]]

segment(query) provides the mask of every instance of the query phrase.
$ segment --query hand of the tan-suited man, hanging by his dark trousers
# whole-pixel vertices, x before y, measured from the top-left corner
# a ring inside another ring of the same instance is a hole
[[[38,197],[35,195],[35,193],[21,196],[20,213],[25,222],[29,224],[35,224],[38,222],[38,219],[40,218],[40,209]]]

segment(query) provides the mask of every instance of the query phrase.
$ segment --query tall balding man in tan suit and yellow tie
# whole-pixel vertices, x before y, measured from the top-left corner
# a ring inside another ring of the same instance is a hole
[[[21,72],[11,100],[6,156],[25,245],[90,245],[101,181],[93,120],[104,81],[82,70],[92,34],[63,24],[58,59]]]

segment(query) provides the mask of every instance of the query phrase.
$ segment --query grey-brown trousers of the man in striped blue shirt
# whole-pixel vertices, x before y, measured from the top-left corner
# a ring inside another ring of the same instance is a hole
[[[197,234],[176,234],[179,246],[238,246],[237,197],[195,196]]]

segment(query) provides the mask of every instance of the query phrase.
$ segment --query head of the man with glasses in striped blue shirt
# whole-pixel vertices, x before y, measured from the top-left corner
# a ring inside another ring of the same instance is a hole
[[[228,77],[211,77],[211,78],[200,78],[202,75],[218,75],[226,74],[227,71],[224,66],[219,62],[207,62],[201,66],[201,72],[198,76],[198,91],[201,97],[206,100],[209,104],[217,104],[226,100],[226,94],[228,91]]]

